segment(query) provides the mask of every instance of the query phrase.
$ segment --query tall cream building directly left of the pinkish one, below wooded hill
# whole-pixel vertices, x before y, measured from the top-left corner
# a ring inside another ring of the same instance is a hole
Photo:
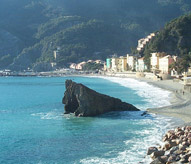
[[[155,72],[155,71],[159,71],[159,59],[166,56],[166,53],[159,53],[159,52],[155,52],[155,53],[151,53],[151,71]]]

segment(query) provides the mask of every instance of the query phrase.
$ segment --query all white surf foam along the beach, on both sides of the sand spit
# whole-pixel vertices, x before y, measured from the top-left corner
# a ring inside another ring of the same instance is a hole
[[[140,97],[144,98],[147,102],[145,105],[137,106],[139,109],[146,110],[147,108],[164,107],[171,105],[170,98],[171,92],[155,87],[146,82],[138,81],[131,78],[119,77],[100,77],[121,86],[128,87],[135,91]],[[132,118],[136,118],[136,113],[132,114]],[[144,130],[135,131],[135,137],[131,140],[124,141],[127,146],[125,151],[118,153],[114,158],[99,158],[88,157],[81,159],[80,163],[83,164],[137,164],[137,163],[150,163],[151,159],[146,156],[146,151],[150,146],[161,145],[162,135],[173,126],[171,117],[163,117],[152,115],[151,119],[143,119],[142,121],[133,122],[137,125],[150,125],[149,128]],[[136,137],[139,136],[139,137]]]

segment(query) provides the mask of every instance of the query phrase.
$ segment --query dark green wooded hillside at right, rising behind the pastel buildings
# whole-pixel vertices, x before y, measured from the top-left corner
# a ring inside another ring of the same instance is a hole
[[[146,60],[149,59],[151,52],[166,52],[181,57],[191,54],[191,14],[167,23],[146,46]]]

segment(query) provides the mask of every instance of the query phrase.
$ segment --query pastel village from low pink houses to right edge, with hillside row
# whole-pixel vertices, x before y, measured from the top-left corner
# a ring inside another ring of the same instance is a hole
[[[155,33],[151,33],[146,38],[138,40],[137,54],[127,54],[125,56],[117,57],[113,55],[111,58],[107,58],[106,62],[101,60],[89,60],[87,62],[81,62],[78,64],[72,63],[70,69],[83,70],[83,66],[87,63],[100,63],[104,65],[101,74],[108,76],[127,76],[137,78],[148,78],[155,81],[174,79],[184,84],[184,89],[191,92],[191,68],[188,68],[188,72],[178,74],[175,69],[171,69],[171,65],[175,62],[179,62],[180,57],[175,55],[169,55],[165,52],[153,52],[150,57],[150,71],[145,64],[144,57],[141,57],[146,44],[155,37]]]

